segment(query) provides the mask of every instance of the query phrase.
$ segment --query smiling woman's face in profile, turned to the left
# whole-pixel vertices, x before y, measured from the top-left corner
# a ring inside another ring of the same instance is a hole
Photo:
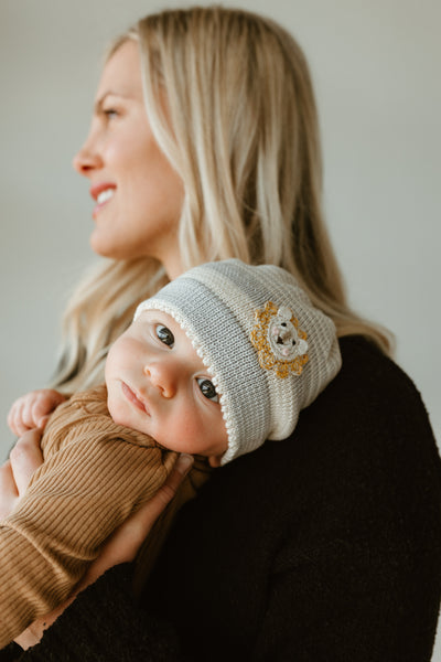
[[[184,189],[151,131],[133,41],[104,68],[90,131],[74,167],[90,180],[96,201],[93,249],[115,259],[155,257],[170,278],[178,276]]]

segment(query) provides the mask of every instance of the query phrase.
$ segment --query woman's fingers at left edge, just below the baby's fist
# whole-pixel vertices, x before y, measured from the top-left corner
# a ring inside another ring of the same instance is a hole
[[[33,472],[43,463],[40,448],[42,431],[28,430],[10,452],[9,460],[0,467],[0,519],[15,508]]]

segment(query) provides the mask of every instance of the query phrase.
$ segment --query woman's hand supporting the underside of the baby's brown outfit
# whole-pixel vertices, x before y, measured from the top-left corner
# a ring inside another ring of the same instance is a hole
[[[176,493],[182,479],[189,472],[192,463],[192,456],[181,455],[178,458],[173,471],[162,488],[109,537],[99,556],[89,566],[86,575],[75,588],[73,595],[51,613],[31,623],[24,632],[15,638],[15,643],[21,645],[23,650],[28,650],[30,647],[39,643],[44,630],[52,626],[58,616],[74,601],[78,592],[84,590],[89,584],[96,581],[110,567],[135,559],[142,542],[166,504]]]

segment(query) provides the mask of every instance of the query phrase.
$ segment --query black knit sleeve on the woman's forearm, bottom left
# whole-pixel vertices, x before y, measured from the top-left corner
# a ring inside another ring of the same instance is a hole
[[[108,570],[78,595],[40,644],[6,660],[178,662],[175,633],[138,608],[131,595],[131,574],[129,564]]]

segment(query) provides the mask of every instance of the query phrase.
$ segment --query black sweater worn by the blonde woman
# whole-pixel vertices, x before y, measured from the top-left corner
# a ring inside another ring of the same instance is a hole
[[[214,472],[139,605],[131,566],[22,662],[426,662],[441,592],[441,463],[411,381],[367,341],[293,435]]]

